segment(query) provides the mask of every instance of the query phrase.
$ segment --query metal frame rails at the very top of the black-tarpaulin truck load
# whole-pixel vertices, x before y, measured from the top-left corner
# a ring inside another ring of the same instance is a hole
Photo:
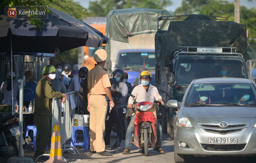
[[[174,16],[160,16],[157,18],[157,29],[158,28],[158,25],[159,25],[159,21],[160,20],[172,20],[172,21],[175,21],[175,20],[185,20],[188,16],[190,16],[191,14],[188,14],[188,15],[174,15]],[[223,16],[209,16],[209,15],[205,15],[209,18],[211,18],[212,20],[215,20],[215,21],[228,21],[228,18],[227,17],[223,17]]]

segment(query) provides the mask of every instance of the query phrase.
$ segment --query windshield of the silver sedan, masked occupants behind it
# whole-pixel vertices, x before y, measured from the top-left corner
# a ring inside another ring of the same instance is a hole
[[[256,90],[246,83],[193,84],[186,96],[186,105],[256,105]]]

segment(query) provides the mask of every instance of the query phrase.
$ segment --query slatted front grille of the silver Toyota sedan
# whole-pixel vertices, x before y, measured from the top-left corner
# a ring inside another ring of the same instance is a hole
[[[242,131],[246,128],[246,124],[238,124],[238,125],[228,125],[225,128],[220,127],[219,125],[208,125],[208,124],[201,124],[204,131],[212,132],[212,133],[220,133],[220,134],[227,134],[233,133],[237,131]]]

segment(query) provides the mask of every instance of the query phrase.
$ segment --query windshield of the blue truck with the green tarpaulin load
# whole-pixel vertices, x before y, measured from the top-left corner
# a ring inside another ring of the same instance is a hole
[[[155,54],[152,52],[121,53],[117,64],[117,67],[122,69],[155,69]]]

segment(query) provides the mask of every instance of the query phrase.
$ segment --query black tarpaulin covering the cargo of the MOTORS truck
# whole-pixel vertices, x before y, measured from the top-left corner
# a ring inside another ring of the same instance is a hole
[[[181,46],[236,47],[247,60],[246,25],[231,21],[214,21],[207,16],[190,15],[184,21],[170,22],[168,30],[155,35],[156,63],[172,63]]]

